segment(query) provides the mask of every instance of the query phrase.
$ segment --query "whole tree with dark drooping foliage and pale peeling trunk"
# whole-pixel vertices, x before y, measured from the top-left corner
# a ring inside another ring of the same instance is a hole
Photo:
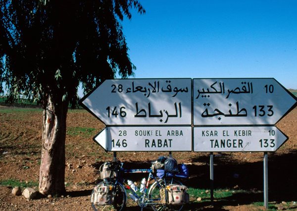
[[[39,191],[65,192],[65,136],[69,103],[135,66],[120,21],[145,9],[138,0],[0,0],[0,94],[43,107]]]

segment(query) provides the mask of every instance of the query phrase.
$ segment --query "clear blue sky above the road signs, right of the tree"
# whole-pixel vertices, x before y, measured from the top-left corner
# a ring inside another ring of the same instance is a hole
[[[296,0],[140,0],[122,22],[135,78],[275,78],[297,89]]]

